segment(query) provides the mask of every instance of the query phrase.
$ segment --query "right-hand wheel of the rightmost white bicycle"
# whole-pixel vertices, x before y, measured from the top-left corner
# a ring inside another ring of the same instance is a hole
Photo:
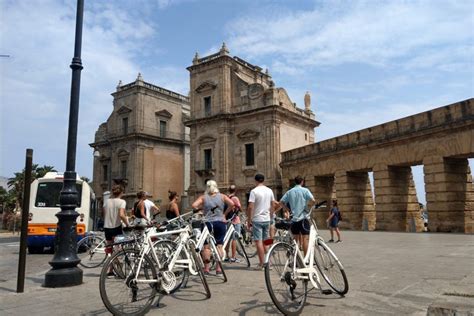
[[[314,246],[314,262],[326,283],[339,295],[349,291],[346,272],[331,248],[318,239]]]

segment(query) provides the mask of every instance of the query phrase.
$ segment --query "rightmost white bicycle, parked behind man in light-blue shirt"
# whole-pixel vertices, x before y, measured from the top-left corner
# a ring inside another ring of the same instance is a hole
[[[312,212],[323,203],[313,206]],[[265,256],[265,283],[268,293],[280,312],[285,315],[298,315],[303,310],[308,293],[308,281],[322,294],[332,294],[332,290],[344,296],[349,290],[344,267],[334,252],[318,234],[314,219],[310,219],[308,250],[301,253],[296,240],[291,243],[274,244]],[[285,223],[289,229],[290,223]],[[291,234],[291,231],[290,231]],[[291,234],[293,237],[293,235]],[[330,289],[322,289],[319,274]]]

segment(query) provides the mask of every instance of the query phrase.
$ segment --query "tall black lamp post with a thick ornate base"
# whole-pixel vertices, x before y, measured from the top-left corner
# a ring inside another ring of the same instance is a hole
[[[46,273],[45,287],[65,287],[82,283],[82,270],[77,267],[81,261],[77,257],[76,212],[78,193],[76,189],[76,145],[77,121],[79,114],[79,91],[81,86],[81,44],[82,44],[82,17],[84,0],[77,0],[76,38],[74,57],[71,63],[71,99],[69,108],[69,130],[67,139],[66,171],[64,184],[60,194],[61,211],[58,217],[58,228],[55,237],[55,254],[49,262],[51,270]]]

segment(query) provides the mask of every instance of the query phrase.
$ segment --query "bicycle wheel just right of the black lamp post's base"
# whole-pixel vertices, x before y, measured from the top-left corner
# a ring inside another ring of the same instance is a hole
[[[77,256],[81,259],[79,264],[84,268],[95,268],[104,263],[105,238],[99,235],[89,235],[77,243]]]

